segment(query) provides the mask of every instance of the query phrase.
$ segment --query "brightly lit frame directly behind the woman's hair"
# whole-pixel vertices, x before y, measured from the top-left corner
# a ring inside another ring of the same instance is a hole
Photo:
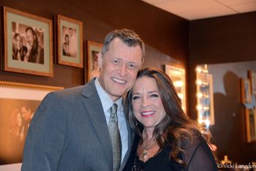
[[[181,99],[182,109],[187,113],[186,104],[186,75],[185,69],[178,66],[165,65],[165,72],[173,81],[178,97]]]

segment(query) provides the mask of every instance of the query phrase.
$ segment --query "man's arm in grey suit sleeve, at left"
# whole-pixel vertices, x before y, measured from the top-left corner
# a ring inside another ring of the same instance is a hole
[[[61,98],[50,93],[43,99],[29,126],[21,170],[57,170],[65,129]]]

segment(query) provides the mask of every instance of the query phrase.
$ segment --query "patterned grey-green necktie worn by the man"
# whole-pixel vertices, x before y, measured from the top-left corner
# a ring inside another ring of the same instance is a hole
[[[118,129],[116,110],[117,104],[114,103],[110,108],[110,119],[108,123],[108,131],[113,149],[113,171],[118,170],[121,164],[121,137]]]

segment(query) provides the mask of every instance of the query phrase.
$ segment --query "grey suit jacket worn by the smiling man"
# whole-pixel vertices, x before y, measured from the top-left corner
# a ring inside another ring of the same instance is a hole
[[[127,124],[129,156],[132,131]],[[29,126],[22,170],[113,170],[112,145],[94,79],[48,94]]]

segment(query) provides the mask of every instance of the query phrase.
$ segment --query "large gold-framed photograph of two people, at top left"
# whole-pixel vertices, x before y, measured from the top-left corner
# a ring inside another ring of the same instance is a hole
[[[4,71],[53,77],[52,21],[3,9]]]

